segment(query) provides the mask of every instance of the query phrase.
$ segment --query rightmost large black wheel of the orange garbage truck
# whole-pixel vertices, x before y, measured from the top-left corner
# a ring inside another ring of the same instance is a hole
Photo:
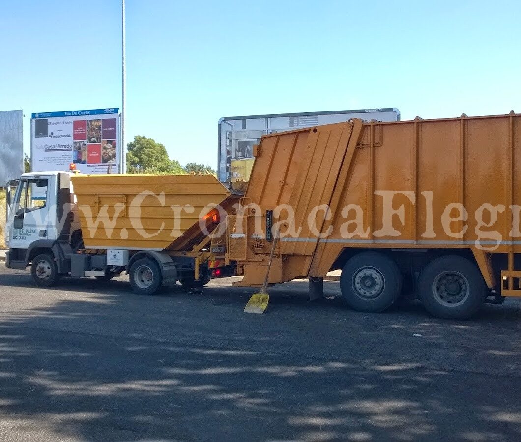
[[[477,266],[456,255],[431,261],[420,273],[418,294],[425,309],[443,319],[468,319],[487,296],[487,285]]]

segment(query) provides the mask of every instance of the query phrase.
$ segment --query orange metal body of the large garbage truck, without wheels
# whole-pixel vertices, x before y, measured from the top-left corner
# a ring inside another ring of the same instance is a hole
[[[272,283],[325,276],[345,248],[470,248],[490,286],[490,254],[513,262],[521,251],[520,138],[513,112],[263,136],[242,200],[250,209],[229,216],[228,259],[241,285],[262,284],[268,220],[281,236]]]

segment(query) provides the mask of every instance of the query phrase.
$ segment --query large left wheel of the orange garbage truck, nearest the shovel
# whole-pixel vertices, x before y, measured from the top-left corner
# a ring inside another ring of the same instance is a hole
[[[354,310],[382,312],[400,296],[402,274],[396,263],[378,252],[362,252],[342,269],[340,291]]]

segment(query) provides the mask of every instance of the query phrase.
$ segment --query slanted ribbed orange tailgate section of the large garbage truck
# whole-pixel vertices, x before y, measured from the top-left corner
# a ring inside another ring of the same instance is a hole
[[[291,261],[291,274],[305,275],[308,271],[311,263],[309,257],[313,255],[318,242],[313,227],[322,232],[326,217],[325,211],[314,211],[314,208],[331,203],[354,127],[357,132],[351,147],[355,149],[362,127],[359,120],[262,138],[259,146],[261,153],[255,159],[246,190],[246,202],[260,206],[263,214],[280,205],[289,206],[292,212],[282,209],[275,213],[274,223],[282,223],[282,239],[277,247],[277,256],[295,256]],[[283,223],[285,220],[288,222]],[[247,229],[247,240],[250,243],[254,241],[250,237],[254,232],[253,222],[253,218],[250,218]],[[292,241],[294,235],[288,236],[288,231],[299,232],[298,241]],[[266,250],[269,247],[265,245],[264,251],[257,249],[256,252],[265,253]]]

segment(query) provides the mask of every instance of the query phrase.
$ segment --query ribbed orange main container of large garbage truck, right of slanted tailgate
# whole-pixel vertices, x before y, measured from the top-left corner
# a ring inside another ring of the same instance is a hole
[[[520,115],[372,126],[379,135],[356,149],[344,185],[337,189],[340,207],[361,207],[363,234],[345,235],[353,211],[349,216],[333,211],[334,229],[316,250],[312,276],[327,272],[343,247],[468,248],[481,238],[490,252],[521,252],[521,236],[511,235],[518,232],[521,206]],[[362,140],[369,140],[370,127],[364,124]],[[392,207],[403,207],[403,222],[392,217],[392,234],[382,231],[381,191],[399,192]],[[490,207],[498,208],[493,219]],[[454,219],[447,221],[449,216]],[[351,223],[349,233],[354,227]],[[492,249],[495,238],[501,243]]]

